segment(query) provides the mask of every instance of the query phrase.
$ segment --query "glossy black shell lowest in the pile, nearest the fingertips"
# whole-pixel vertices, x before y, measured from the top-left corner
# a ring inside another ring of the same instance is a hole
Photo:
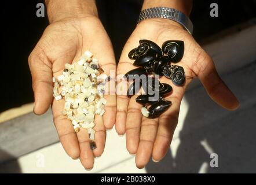
[[[162,114],[164,111],[166,111],[171,105],[171,101],[160,101],[154,103],[149,109],[149,117],[158,117],[160,114]]]

